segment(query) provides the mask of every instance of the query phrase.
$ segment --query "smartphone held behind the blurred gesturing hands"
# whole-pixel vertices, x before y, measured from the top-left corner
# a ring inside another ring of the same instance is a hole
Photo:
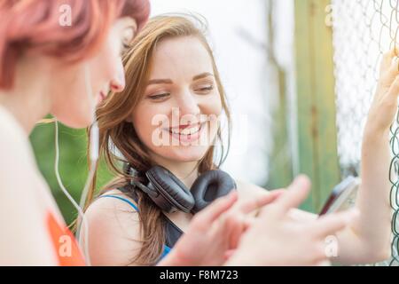
[[[347,177],[332,189],[319,216],[350,209],[355,206],[356,193],[360,185],[359,177]]]

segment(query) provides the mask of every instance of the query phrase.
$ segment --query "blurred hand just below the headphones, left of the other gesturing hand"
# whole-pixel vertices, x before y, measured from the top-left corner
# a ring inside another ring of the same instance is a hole
[[[216,200],[192,218],[187,232],[159,265],[224,264],[246,231],[248,213],[276,200],[281,193],[238,201],[237,192],[233,192]]]

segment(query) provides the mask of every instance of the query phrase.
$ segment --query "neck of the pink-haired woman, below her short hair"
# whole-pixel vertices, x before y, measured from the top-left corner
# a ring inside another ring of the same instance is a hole
[[[15,70],[11,90],[0,90],[0,105],[4,106],[27,135],[35,123],[50,112],[49,74],[41,59],[21,59]]]

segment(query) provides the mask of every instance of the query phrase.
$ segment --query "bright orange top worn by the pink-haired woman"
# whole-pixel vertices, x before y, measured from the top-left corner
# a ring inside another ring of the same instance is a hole
[[[59,225],[51,212],[47,215],[47,226],[60,266],[84,266],[84,258],[74,234]]]

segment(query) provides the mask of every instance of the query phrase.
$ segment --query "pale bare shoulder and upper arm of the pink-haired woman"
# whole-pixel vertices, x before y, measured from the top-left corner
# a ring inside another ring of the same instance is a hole
[[[6,256],[0,257],[0,264],[56,264],[45,225],[47,211],[38,196],[46,185],[27,136],[2,109],[0,137],[0,215],[4,217],[0,251]]]

